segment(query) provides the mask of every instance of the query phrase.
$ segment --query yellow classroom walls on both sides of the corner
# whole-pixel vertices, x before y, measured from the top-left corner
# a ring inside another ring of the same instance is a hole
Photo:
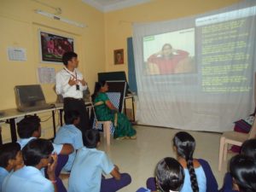
[[[153,0],[150,3],[104,14],[82,3],[81,0],[0,0],[0,110],[16,107],[15,85],[38,84],[38,67],[54,67],[55,72],[63,67],[61,64],[40,62],[38,30],[75,39],[75,51],[79,54],[80,61],[79,70],[84,74],[90,91],[93,91],[97,73],[106,71],[128,73],[126,38],[132,36],[132,23],[174,20],[240,1]],[[47,4],[61,8],[61,17],[84,23],[87,27],[71,26],[34,12],[35,9],[42,9],[55,14],[55,10],[46,6]],[[8,47],[26,49],[27,60],[9,61]],[[113,49],[125,50],[125,64],[113,64]],[[47,102],[55,102],[54,84],[42,84],[42,86]],[[40,117],[46,121],[42,123],[43,137],[52,136],[50,114],[41,114]],[[56,120],[58,124],[60,119]],[[10,141],[9,125],[2,126],[3,143],[6,143]]]

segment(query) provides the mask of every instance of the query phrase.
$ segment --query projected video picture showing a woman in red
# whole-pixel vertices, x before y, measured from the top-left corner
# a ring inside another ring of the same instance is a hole
[[[195,73],[195,29],[143,38],[146,74]]]

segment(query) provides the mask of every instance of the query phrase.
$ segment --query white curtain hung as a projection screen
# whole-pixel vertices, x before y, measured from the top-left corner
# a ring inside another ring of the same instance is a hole
[[[134,24],[139,124],[228,131],[253,113],[255,15],[255,1],[245,1],[204,15]],[[164,44],[172,45],[172,69],[157,64]],[[182,51],[185,59],[177,59]]]

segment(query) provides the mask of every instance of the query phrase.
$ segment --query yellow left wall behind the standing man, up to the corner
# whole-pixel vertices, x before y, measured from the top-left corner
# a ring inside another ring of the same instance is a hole
[[[43,2],[38,3],[38,2]],[[45,4],[46,5],[45,5]],[[34,12],[41,9],[61,17],[86,24],[79,28]],[[14,87],[18,84],[38,84],[38,67],[53,67],[58,72],[62,64],[41,63],[38,30],[74,38],[79,54],[79,70],[93,90],[98,71],[105,71],[104,14],[80,0],[1,0],[0,1],[0,110],[15,108]],[[9,61],[8,47],[26,49],[26,61]],[[54,84],[42,84],[47,102],[55,102]]]

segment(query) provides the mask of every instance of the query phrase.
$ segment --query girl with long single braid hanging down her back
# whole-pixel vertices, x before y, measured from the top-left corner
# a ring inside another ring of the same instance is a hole
[[[181,192],[206,192],[207,177],[199,162],[193,158],[195,139],[189,133],[180,131],[173,138],[177,161],[183,166],[185,180]]]

